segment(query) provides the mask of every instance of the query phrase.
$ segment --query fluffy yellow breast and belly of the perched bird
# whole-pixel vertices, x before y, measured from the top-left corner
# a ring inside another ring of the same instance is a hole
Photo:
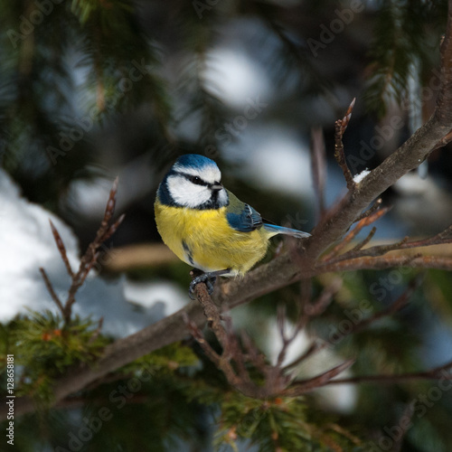
[[[231,268],[233,274],[246,273],[265,256],[271,235],[263,228],[235,231],[226,219],[225,207],[202,211],[157,201],[155,221],[170,250],[202,271]]]

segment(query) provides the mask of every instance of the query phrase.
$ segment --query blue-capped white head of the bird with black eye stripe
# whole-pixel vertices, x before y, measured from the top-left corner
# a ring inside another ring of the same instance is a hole
[[[229,203],[218,166],[197,154],[176,160],[160,184],[158,197],[165,204],[190,209],[219,209]]]

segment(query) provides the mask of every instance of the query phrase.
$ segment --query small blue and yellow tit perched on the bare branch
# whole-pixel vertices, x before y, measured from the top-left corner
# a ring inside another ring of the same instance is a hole
[[[210,158],[188,154],[177,159],[158,186],[157,229],[170,250],[202,270],[190,285],[206,283],[212,293],[218,276],[241,276],[262,259],[270,237],[310,234],[270,224],[249,204],[221,185],[221,172]]]

